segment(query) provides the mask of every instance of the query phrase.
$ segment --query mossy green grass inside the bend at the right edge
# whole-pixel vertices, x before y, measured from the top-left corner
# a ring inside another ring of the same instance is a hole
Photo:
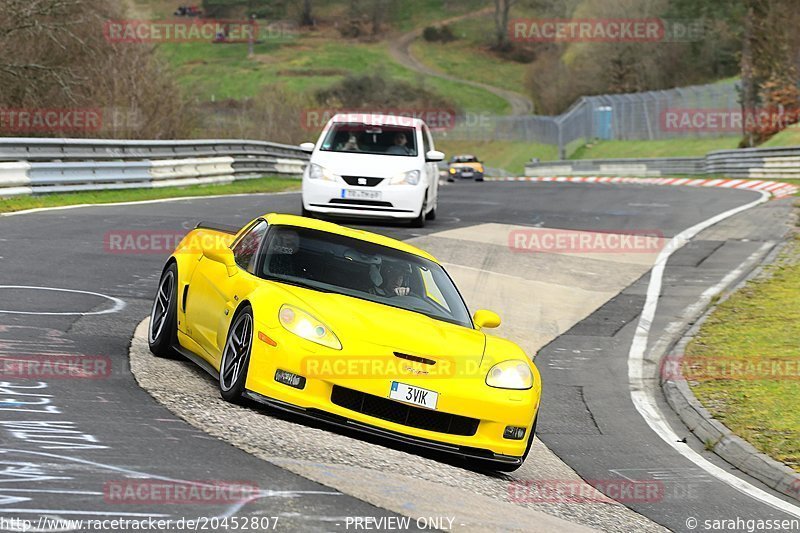
[[[759,451],[800,472],[800,239],[768,276],[751,281],[720,304],[689,344],[686,355],[704,362],[793,365],[772,379],[690,381],[703,405]],[[793,370],[792,370],[793,369]]]

